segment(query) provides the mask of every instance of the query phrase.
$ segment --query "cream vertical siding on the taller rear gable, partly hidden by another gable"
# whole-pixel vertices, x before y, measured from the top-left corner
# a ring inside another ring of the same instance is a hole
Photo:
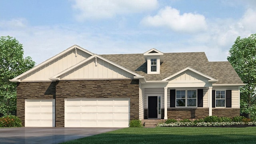
[[[67,68],[81,62],[82,60],[90,57],[91,55],[77,49],[77,54],[75,50],[67,52],[62,56],[44,64],[40,68],[30,72],[26,76],[20,78],[21,81],[39,81],[39,80],[49,80],[52,76],[66,70]]]

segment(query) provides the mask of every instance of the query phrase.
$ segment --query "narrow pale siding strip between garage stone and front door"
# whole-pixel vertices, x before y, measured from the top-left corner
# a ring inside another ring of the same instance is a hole
[[[144,88],[142,88],[142,84],[139,82],[139,119],[144,119]]]

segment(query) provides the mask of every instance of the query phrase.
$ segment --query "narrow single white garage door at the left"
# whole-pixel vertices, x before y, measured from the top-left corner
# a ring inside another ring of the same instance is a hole
[[[25,100],[25,126],[55,127],[55,100]]]

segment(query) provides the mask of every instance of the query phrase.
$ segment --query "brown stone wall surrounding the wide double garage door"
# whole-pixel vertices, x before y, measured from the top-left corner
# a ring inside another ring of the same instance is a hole
[[[64,127],[65,98],[130,98],[130,119],[139,119],[139,80],[56,82],[56,127]]]

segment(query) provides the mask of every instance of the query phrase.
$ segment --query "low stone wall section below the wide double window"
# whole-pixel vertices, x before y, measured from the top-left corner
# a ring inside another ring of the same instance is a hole
[[[168,118],[187,118],[187,119],[201,119],[209,115],[208,108],[168,108]]]

